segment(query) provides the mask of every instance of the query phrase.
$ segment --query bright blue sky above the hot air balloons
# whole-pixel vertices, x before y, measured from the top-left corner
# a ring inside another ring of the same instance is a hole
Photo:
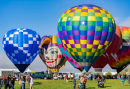
[[[2,39],[14,28],[29,28],[44,35],[57,34],[58,19],[70,7],[94,4],[106,9],[117,25],[130,26],[130,0],[0,0],[0,52]]]

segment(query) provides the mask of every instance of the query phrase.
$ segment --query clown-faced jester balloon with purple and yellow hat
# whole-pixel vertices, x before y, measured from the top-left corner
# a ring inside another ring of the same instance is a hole
[[[57,45],[56,35],[43,36],[39,48],[39,56],[45,65],[52,72],[58,72],[65,64],[66,59]]]

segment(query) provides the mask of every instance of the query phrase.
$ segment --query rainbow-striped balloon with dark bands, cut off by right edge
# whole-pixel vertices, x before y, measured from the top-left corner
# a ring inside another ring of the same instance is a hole
[[[111,68],[119,73],[130,63],[130,27],[120,27],[122,32],[122,45],[117,52],[117,58],[109,62]],[[118,43],[116,43],[117,45]]]

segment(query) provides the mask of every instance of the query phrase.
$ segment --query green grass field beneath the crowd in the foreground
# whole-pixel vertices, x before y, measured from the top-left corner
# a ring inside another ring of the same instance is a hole
[[[79,84],[79,80],[77,80],[77,85],[78,84]],[[19,82],[16,82],[14,89],[20,89]],[[29,89],[27,83],[25,89]],[[33,89],[73,89],[73,81],[69,80],[69,82],[66,83],[65,80],[35,79]],[[96,80],[95,81],[88,80],[86,83],[86,89],[99,89],[97,88]],[[122,86],[121,80],[109,79],[106,80],[104,89],[130,89],[130,84],[128,84],[128,80],[126,80],[124,86]]]

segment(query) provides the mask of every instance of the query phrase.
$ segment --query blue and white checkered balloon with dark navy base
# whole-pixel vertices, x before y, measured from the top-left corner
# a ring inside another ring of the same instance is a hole
[[[3,37],[3,48],[8,58],[24,72],[39,52],[40,36],[31,29],[18,28]]]

